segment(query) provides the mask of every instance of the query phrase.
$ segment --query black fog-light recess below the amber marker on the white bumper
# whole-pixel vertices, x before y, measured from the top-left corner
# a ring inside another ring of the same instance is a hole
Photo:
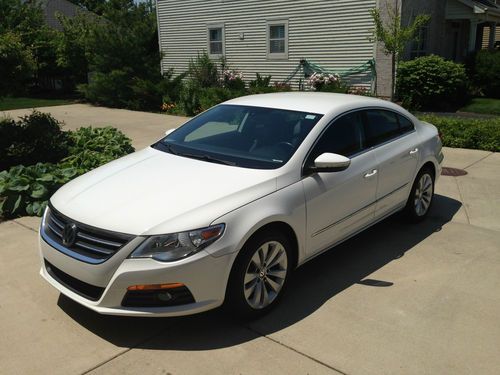
[[[181,286],[166,290],[128,290],[123,298],[122,306],[168,307],[188,303],[194,303],[193,295],[187,287]]]

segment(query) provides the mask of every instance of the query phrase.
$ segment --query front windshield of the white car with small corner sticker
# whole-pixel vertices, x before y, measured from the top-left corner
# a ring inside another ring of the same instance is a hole
[[[207,162],[275,169],[286,164],[321,117],[223,104],[188,121],[153,147]]]

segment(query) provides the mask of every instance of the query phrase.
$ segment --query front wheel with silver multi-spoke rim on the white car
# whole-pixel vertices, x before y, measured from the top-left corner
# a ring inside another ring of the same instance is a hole
[[[281,299],[293,268],[291,242],[265,231],[243,246],[231,270],[226,306],[239,317],[257,318]]]

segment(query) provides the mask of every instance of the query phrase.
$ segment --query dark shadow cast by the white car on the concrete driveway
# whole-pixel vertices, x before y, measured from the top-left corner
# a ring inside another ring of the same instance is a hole
[[[409,225],[393,216],[300,267],[281,303],[251,324],[220,309],[181,318],[129,318],[99,315],[63,295],[58,305],[81,326],[119,347],[189,351],[234,346],[307,318],[353,284],[391,287],[391,280],[366,277],[440,231],[461,207],[442,195],[434,199],[423,223]]]

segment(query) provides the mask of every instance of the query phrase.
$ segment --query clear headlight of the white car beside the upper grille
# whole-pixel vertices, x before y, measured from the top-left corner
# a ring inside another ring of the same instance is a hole
[[[131,258],[153,258],[162,262],[173,262],[193,255],[215,242],[224,233],[224,224],[181,232],[148,237]]]

